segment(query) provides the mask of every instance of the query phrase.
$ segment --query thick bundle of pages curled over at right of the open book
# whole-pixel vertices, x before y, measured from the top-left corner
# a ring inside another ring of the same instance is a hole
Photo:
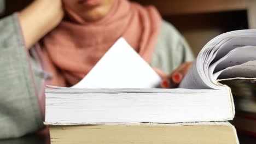
[[[240,49],[234,50],[237,47],[243,46],[249,47],[245,47],[246,49],[243,49],[245,51]],[[248,61],[255,60],[251,53],[254,53],[254,46],[256,46],[255,29],[232,31],[219,35],[218,37],[209,41],[203,47],[199,53],[199,56],[197,56],[193,67],[184,77],[181,85],[179,85],[179,88],[222,89],[223,86],[218,84],[216,75],[213,76],[212,71],[215,71],[216,74],[220,74],[222,69],[234,66],[234,64],[227,64],[226,62],[228,60],[235,60],[236,58],[240,58],[240,63],[246,63]],[[234,51],[229,53],[232,50]],[[226,55],[230,56],[227,57]],[[238,57],[238,55],[240,56]],[[225,59],[223,57],[227,58],[226,61],[223,61],[223,59]],[[222,59],[221,61],[223,62],[220,62],[219,59]],[[220,65],[216,64],[211,68],[211,65],[215,62],[220,63]]]

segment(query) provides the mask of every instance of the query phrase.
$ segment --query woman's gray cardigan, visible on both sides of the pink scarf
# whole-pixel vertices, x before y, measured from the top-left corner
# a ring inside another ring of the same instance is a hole
[[[151,65],[170,73],[186,61],[193,61],[188,44],[163,21]],[[0,68],[0,139],[43,128],[37,95],[45,73],[25,49],[18,14],[0,20]]]

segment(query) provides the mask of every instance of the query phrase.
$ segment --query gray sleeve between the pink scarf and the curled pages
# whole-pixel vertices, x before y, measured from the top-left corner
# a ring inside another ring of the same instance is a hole
[[[194,60],[193,52],[184,37],[170,23],[162,21],[151,65],[170,74],[184,62]]]

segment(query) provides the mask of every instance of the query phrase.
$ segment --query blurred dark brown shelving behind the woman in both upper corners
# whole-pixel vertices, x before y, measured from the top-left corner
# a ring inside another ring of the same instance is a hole
[[[237,29],[256,28],[255,0],[133,0],[155,5],[188,40],[195,56],[217,35]],[[6,14],[21,10],[31,0],[6,1]]]

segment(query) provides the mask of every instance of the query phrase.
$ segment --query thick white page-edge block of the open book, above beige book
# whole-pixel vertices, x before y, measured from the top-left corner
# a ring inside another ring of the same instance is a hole
[[[46,93],[45,123],[209,122],[234,117],[228,88],[135,90]]]

